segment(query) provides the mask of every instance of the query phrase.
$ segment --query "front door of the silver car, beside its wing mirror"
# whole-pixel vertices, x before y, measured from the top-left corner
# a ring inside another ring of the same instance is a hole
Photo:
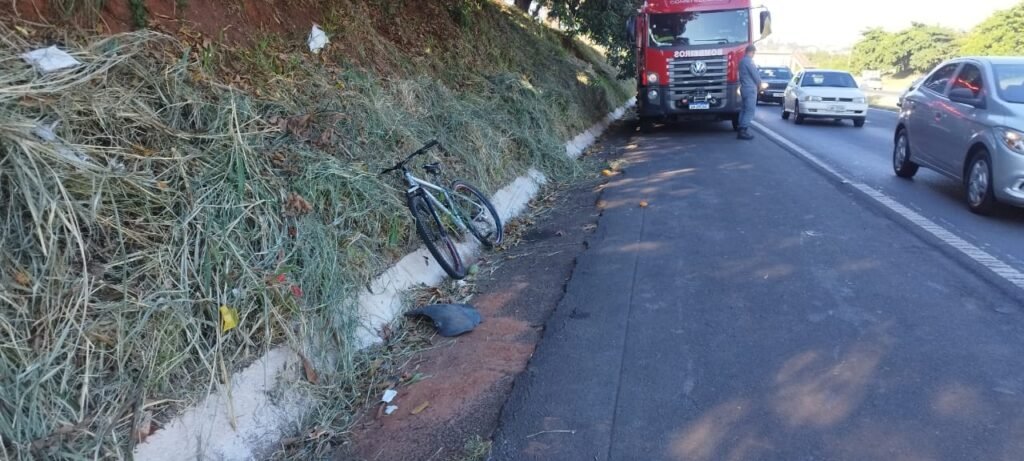
[[[964,88],[970,90],[974,97],[984,98],[986,79],[982,69],[977,62],[964,62],[952,80],[949,91]],[[949,174],[962,177],[971,139],[979,129],[983,129],[979,119],[984,118],[984,111],[952,100],[938,103],[935,122],[937,136],[935,158],[936,163]]]

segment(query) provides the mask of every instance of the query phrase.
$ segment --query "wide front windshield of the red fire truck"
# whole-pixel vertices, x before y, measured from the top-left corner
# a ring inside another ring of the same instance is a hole
[[[650,46],[725,45],[751,39],[745,9],[650,15]]]

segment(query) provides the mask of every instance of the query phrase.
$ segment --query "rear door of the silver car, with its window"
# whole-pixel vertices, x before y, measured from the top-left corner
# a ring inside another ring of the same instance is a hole
[[[959,66],[958,61],[940,66],[904,101],[907,106],[904,109],[908,111],[907,131],[913,157],[944,173],[948,173],[947,167],[942,166],[935,156],[940,145],[936,140],[936,113],[942,104],[949,103],[946,93]]]

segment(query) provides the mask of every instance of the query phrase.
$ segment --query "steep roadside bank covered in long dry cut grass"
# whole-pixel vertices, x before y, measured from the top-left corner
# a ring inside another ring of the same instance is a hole
[[[343,428],[358,400],[353,295],[418,245],[401,185],[376,172],[436,137],[449,174],[487,192],[530,167],[570,175],[563,142],[629,92],[593,49],[486,0],[10,5],[11,459],[128,457],[281,343],[315,370],[306,392],[332,401],[308,423]],[[316,55],[310,22],[332,40]],[[44,76],[19,57],[49,44],[82,65]]]

